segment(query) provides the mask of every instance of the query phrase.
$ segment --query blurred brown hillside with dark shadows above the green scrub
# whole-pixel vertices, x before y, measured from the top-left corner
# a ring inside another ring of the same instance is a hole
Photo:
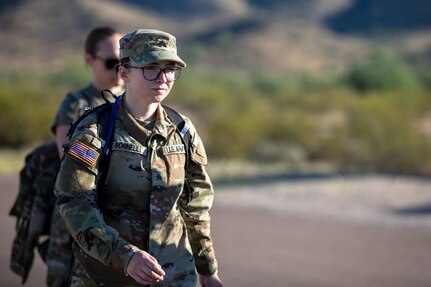
[[[379,46],[430,61],[427,0],[2,0],[7,69],[61,67],[97,25],[175,34],[194,68],[336,72]],[[422,60],[423,59],[423,60]]]

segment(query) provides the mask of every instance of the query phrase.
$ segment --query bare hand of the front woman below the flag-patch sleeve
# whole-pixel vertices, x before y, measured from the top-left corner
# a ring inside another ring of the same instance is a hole
[[[133,255],[127,265],[127,274],[143,285],[163,281],[165,271],[157,262],[157,259],[145,251],[139,251]]]

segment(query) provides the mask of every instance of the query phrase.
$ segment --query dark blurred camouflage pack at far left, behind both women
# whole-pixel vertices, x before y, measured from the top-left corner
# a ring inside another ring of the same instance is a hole
[[[22,277],[23,283],[33,265],[36,247],[42,259],[46,259],[46,243],[39,243],[39,237],[49,232],[58,164],[55,141],[48,141],[27,155],[20,172],[18,197],[9,213],[17,218],[10,268]]]

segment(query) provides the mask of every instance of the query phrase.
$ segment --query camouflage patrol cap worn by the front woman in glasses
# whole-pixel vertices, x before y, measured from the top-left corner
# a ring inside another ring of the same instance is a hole
[[[186,63],[177,55],[173,35],[154,29],[138,29],[120,39],[120,58],[129,57],[138,65],[174,61],[180,67]]]

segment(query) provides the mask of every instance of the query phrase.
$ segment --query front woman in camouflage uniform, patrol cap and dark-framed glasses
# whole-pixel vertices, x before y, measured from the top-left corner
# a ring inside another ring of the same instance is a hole
[[[73,134],[56,182],[57,205],[76,242],[72,286],[196,286],[195,270],[202,286],[222,286],[210,237],[213,188],[203,143],[184,118],[187,151],[161,105],[186,66],[175,37],[136,30],[120,40],[120,56],[126,92],[116,101],[106,179],[96,184],[106,169],[98,161],[107,143],[95,112]],[[184,200],[186,185],[190,202]]]

